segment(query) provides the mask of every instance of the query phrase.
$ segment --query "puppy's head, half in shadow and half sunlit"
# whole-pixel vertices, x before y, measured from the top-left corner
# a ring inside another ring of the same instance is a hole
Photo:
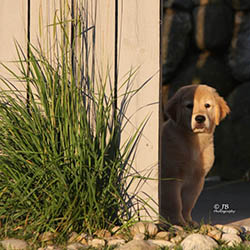
[[[214,88],[188,85],[180,88],[168,101],[166,112],[183,128],[194,133],[211,133],[230,109]]]

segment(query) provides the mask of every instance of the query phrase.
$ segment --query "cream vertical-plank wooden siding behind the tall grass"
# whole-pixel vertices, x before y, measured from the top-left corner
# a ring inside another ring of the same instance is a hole
[[[48,31],[48,25],[53,23],[54,11],[60,8],[60,1],[30,1],[29,28],[30,40],[33,44],[36,45],[38,38],[45,37],[47,32],[51,32],[52,36],[52,31]],[[105,74],[109,68],[110,79],[117,84],[117,89],[121,88],[130,71],[136,70],[133,77],[134,90],[147,82],[130,103],[127,113],[130,122],[123,133],[123,141],[148,118],[137,148],[134,167],[142,175],[152,178],[141,187],[140,196],[145,201],[150,197],[152,199],[150,205],[158,212],[160,0],[72,0],[69,2],[76,4],[78,1],[88,9],[89,27],[92,25],[95,27],[93,55],[96,72]],[[1,0],[1,62],[16,59],[14,39],[24,50],[26,48],[27,3],[28,0]],[[90,42],[92,42],[91,37]],[[115,55],[117,55],[116,59]],[[4,74],[2,68],[0,73]],[[119,97],[119,93],[117,95]],[[118,108],[119,100],[118,98]],[[131,192],[135,187],[136,185],[132,187]],[[149,213],[156,216],[152,211]],[[145,212],[142,215],[147,216]]]

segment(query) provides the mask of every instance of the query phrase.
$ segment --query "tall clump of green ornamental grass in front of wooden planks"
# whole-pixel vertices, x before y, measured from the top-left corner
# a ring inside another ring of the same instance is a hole
[[[14,81],[1,79],[0,227],[6,232],[91,234],[131,218],[130,168],[145,125],[121,145],[136,94],[133,74],[118,109],[109,72],[88,74],[89,29],[72,39],[69,23],[75,34],[84,26],[80,15],[77,22],[55,22],[51,28],[59,26],[61,39],[55,32],[49,56],[31,44],[26,55],[16,43],[19,72],[6,67]]]

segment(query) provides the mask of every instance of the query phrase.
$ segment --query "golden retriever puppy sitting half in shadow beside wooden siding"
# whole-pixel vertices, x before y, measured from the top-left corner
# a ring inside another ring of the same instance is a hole
[[[230,112],[214,88],[188,85],[168,101],[162,130],[160,213],[172,224],[197,225],[191,211],[214,162],[213,133]]]

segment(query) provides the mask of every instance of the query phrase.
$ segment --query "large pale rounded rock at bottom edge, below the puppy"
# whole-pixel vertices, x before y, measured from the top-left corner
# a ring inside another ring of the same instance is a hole
[[[212,250],[218,246],[215,240],[202,234],[191,234],[180,245],[183,250]]]

